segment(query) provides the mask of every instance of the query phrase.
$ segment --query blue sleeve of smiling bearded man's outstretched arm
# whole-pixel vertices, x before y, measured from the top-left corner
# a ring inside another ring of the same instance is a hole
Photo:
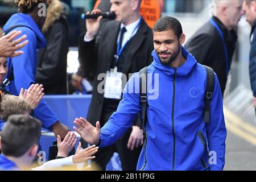
[[[109,146],[116,142],[127,129],[133,126],[134,119],[141,110],[139,104],[139,92],[135,86],[139,86],[139,82],[135,81],[135,77],[139,75],[135,73],[127,82],[123,90],[122,101],[119,102],[117,111],[112,114],[109,121],[106,122],[101,129],[100,147]]]

